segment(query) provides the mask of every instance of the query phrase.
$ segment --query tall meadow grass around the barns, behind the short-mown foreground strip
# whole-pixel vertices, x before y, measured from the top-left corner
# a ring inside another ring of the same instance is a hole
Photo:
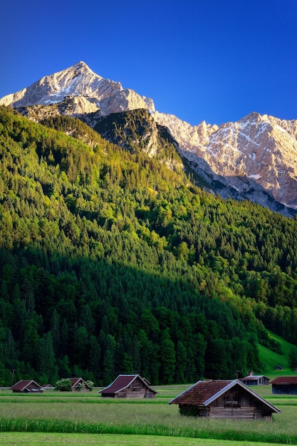
[[[144,402],[74,395],[60,396],[57,402],[46,395],[15,399],[11,395],[0,398],[0,431],[142,434],[297,445],[297,406],[287,405],[288,401],[283,401],[282,413],[266,422],[182,417],[177,406],[167,405],[165,398]]]

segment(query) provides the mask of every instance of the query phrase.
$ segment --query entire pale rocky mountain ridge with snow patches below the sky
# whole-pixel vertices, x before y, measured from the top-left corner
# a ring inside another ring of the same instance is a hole
[[[83,62],[5,96],[0,104],[17,108],[36,121],[51,115],[71,115],[99,132],[99,127],[103,128],[105,138],[111,133],[104,117],[145,109],[157,125],[169,129],[179,155],[212,192],[224,198],[246,198],[285,215],[297,210],[297,120],[251,113],[235,123],[192,126],[174,115],[155,111],[151,99],[98,76]],[[147,128],[153,133],[148,121]],[[125,132],[123,135],[127,135],[127,123]],[[114,142],[114,135],[110,138]],[[156,152],[154,138],[151,135],[148,139],[150,156]]]

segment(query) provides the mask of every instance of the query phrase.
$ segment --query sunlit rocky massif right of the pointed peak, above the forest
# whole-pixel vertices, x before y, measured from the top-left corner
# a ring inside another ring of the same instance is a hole
[[[214,178],[223,177],[239,192],[259,185],[297,209],[297,120],[251,113],[235,123],[191,126],[165,113],[154,118],[170,129],[194,169],[207,165]]]

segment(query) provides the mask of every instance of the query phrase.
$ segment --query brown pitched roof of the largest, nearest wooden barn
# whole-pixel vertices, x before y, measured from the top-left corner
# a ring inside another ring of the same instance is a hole
[[[271,408],[273,412],[278,412],[278,413],[281,412],[278,408],[276,408],[271,403],[264,400],[264,398],[262,398],[256,392],[254,392],[254,390],[251,390],[247,385],[241,383],[240,380],[198,381],[198,383],[192,385],[192,387],[185,390],[183,393],[181,393],[176,398],[171,400],[169,404],[207,406],[210,403],[212,403],[212,401],[217,400],[219,396],[224,395],[224,393],[233,388],[234,385],[239,385],[239,387],[246,390],[247,393],[250,393],[256,399],[260,400],[261,403],[264,403],[269,408]]]

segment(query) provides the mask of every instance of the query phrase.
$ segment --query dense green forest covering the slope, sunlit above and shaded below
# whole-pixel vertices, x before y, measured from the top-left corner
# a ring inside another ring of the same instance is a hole
[[[0,108],[0,385],[232,379],[265,328],[297,343],[296,220],[194,187],[166,140],[45,124]]]

